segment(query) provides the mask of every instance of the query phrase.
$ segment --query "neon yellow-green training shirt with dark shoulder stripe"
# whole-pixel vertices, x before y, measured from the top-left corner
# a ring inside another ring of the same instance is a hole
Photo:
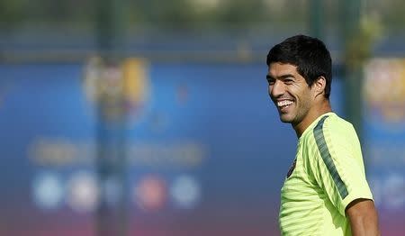
[[[289,177],[288,177],[289,176]],[[302,133],[281,190],[283,235],[351,235],[347,204],[372,199],[351,123],[325,113]]]

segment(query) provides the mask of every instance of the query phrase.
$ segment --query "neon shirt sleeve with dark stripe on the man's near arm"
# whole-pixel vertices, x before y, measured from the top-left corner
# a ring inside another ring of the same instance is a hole
[[[328,120],[321,120],[313,130],[316,148],[312,149],[311,173],[330,202],[345,216],[348,204],[358,198],[373,200],[373,195],[353,126],[331,127]]]

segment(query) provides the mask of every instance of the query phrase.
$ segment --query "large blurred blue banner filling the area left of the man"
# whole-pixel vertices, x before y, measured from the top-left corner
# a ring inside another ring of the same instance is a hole
[[[296,138],[263,65],[94,58],[0,73],[1,235],[105,235],[100,213],[127,235],[278,233]]]

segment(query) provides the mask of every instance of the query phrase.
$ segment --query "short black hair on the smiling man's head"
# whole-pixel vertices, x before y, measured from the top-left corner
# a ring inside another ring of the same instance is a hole
[[[329,99],[332,84],[332,59],[325,44],[317,38],[295,35],[276,44],[267,54],[267,66],[280,62],[297,67],[308,86],[319,78],[326,78],[325,97]]]

